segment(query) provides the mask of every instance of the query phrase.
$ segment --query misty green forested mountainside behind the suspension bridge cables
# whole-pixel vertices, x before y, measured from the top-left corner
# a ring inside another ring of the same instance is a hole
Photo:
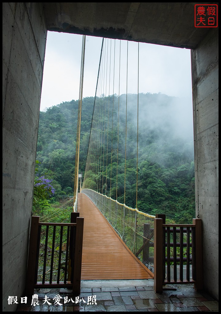
[[[111,197],[124,203],[127,101],[125,203],[133,208],[136,204],[137,99],[138,95],[132,94],[127,97],[101,96],[100,119],[107,122],[108,108],[109,116],[112,118],[113,114],[114,117],[113,124],[112,121],[109,123],[108,135],[112,138],[112,143],[108,140],[112,148],[108,149],[107,158],[106,155],[102,157],[108,160],[107,167],[104,164],[94,178],[105,182],[99,192],[110,196],[111,184]],[[149,214],[164,213],[177,223],[190,223],[195,217],[193,126],[191,107],[187,102],[190,100],[160,93],[139,94],[137,207]],[[79,165],[83,174],[93,106],[94,97],[83,99]],[[51,202],[58,200],[59,195],[73,195],[77,118],[78,101],[75,100],[40,112],[37,174],[52,180],[55,193]]]

